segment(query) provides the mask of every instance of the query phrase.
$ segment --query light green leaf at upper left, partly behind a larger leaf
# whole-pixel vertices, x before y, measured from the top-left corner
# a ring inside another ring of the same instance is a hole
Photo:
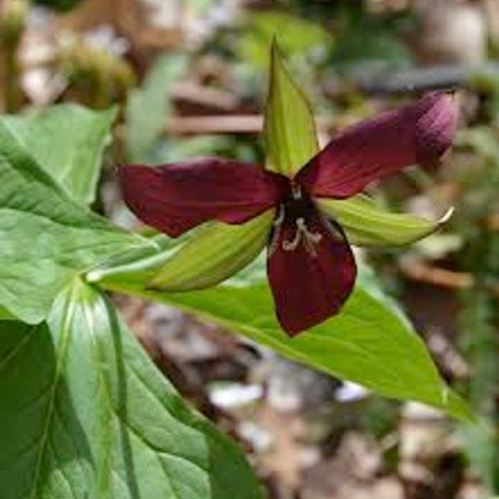
[[[62,104],[0,121],[75,200],[94,202],[103,152],[111,141],[116,109],[92,111]]]

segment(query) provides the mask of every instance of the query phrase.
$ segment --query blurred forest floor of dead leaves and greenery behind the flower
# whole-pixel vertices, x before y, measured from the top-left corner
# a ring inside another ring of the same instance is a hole
[[[116,297],[177,388],[236,436],[271,498],[488,499],[499,493],[497,0],[0,0],[0,112],[116,105],[94,207],[135,225],[113,166],[217,155],[263,161],[277,36],[319,137],[429,89],[462,110],[443,164],[378,201],[455,214],[403,249],[363,252],[439,369],[480,415],[463,427],[383,401],[166,306]]]

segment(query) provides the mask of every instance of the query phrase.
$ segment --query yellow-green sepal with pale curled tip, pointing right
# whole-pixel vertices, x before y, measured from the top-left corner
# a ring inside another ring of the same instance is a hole
[[[378,207],[365,195],[347,200],[317,199],[319,208],[343,227],[349,242],[356,246],[400,246],[414,243],[435,232],[452,214],[449,210],[440,220],[401,213],[390,213]]]

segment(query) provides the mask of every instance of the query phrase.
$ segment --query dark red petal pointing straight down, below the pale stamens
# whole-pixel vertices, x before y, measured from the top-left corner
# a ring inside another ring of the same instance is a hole
[[[269,247],[268,279],[277,317],[290,336],[338,313],[356,279],[356,263],[340,227],[315,211],[306,227],[315,238],[320,236],[316,243],[308,241],[311,247],[302,236],[297,247],[290,249],[297,233],[290,216],[275,229]]]

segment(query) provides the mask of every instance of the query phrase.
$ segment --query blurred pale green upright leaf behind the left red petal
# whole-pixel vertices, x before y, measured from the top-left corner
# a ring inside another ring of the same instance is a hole
[[[184,74],[186,65],[184,55],[163,55],[149,71],[143,88],[130,92],[126,109],[126,146],[130,161],[148,158],[170,114],[171,87]]]

